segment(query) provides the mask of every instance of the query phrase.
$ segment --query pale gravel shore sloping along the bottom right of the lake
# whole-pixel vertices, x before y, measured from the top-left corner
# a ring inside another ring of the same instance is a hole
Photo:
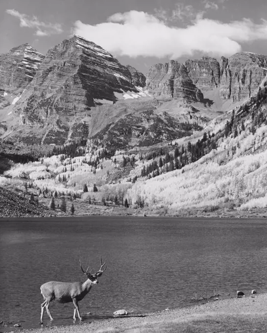
[[[213,301],[181,309],[44,327],[24,333],[267,332],[267,294]]]

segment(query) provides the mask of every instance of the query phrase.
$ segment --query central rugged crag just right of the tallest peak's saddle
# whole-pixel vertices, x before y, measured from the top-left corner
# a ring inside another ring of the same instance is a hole
[[[146,89],[154,96],[197,101],[197,88],[186,67],[174,60],[150,68],[146,74]]]

